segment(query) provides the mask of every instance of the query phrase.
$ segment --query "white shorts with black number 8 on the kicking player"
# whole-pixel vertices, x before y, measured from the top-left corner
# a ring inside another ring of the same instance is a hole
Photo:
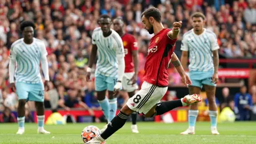
[[[163,98],[168,87],[159,87],[147,82],[143,82],[141,90],[130,98],[126,105],[133,111],[139,114],[146,115],[148,111]]]

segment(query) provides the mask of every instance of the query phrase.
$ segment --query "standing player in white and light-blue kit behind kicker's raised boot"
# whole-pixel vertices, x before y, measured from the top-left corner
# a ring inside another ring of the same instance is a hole
[[[193,29],[183,35],[181,50],[181,63],[187,67],[189,52],[189,94],[200,94],[204,86],[209,101],[209,116],[211,119],[211,133],[217,131],[217,106],[215,102],[216,83],[218,82],[219,45],[216,35],[204,28],[205,17],[203,13],[196,12],[192,16]],[[197,103],[191,105],[188,111],[189,128],[181,134],[195,134],[195,123],[198,115]]]

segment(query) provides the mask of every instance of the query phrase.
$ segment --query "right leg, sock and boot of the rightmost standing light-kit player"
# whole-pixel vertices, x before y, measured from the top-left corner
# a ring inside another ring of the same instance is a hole
[[[212,134],[219,134],[217,131],[217,115],[218,115],[218,110],[217,110],[217,105],[215,102],[215,86],[210,86],[210,85],[204,85],[204,89],[206,92],[207,100],[209,102],[209,116],[211,119],[211,132]]]

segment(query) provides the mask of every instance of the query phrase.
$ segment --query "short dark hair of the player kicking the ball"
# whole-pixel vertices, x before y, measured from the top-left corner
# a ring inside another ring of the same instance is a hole
[[[149,9],[142,12],[141,18],[143,17],[143,15],[147,19],[149,19],[149,17],[153,17],[156,21],[161,22],[162,16],[161,16],[160,11],[156,7],[150,7]]]

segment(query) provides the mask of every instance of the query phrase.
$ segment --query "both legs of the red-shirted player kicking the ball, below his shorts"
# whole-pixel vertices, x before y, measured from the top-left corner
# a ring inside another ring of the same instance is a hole
[[[191,105],[193,103],[201,101],[201,97],[197,94],[186,95],[184,98],[173,101],[165,101],[161,105],[155,105],[151,108],[145,117],[152,117],[155,115],[162,115],[167,111],[170,111],[174,108]],[[101,143],[114,134],[117,130],[121,129],[124,126],[127,118],[132,114],[131,110],[127,105],[125,105],[116,117],[108,124],[107,129],[100,134],[99,137],[95,137],[87,143]]]

